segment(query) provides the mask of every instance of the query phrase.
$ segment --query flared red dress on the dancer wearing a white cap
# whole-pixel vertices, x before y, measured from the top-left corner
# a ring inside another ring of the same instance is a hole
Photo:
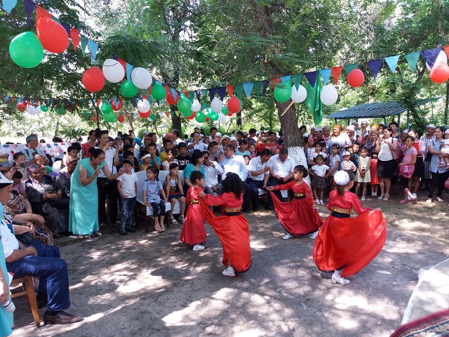
[[[314,262],[319,270],[333,272],[344,267],[342,277],[360,272],[377,256],[387,239],[387,226],[381,211],[364,209],[356,194],[337,190],[329,194],[330,211],[351,209],[356,218],[328,216],[319,230],[314,246]]]

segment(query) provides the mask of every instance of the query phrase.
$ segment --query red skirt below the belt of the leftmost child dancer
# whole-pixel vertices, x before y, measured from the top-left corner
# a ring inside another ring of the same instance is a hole
[[[206,228],[204,228],[204,216],[200,204],[191,204],[187,209],[185,223],[182,226],[180,240],[185,244],[194,246],[206,242]]]

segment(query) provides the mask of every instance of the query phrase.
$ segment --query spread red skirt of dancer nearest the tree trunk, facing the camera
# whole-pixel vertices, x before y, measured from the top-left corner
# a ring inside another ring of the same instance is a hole
[[[299,236],[316,232],[323,219],[316,209],[310,206],[306,198],[282,202],[272,191],[274,208],[282,227],[292,235]]]

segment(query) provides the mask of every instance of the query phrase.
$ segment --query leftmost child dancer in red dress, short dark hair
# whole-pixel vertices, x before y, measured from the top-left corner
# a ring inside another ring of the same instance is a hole
[[[186,198],[189,209],[187,209],[184,226],[182,226],[180,240],[193,246],[193,251],[202,251],[206,248],[203,244],[206,242],[207,236],[204,228],[204,216],[199,204],[199,194],[203,191],[205,184],[203,173],[192,171],[190,182],[192,186],[189,187]]]

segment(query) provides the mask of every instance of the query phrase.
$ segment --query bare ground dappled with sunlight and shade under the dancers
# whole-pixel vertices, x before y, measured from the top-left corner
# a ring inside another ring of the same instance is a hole
[[[283,240],[273,213],[247,216],[253,265],[229,278],[222,247],[206,225],[205,251],[179,241],[182,225],[163,234],[138,230],[62,247],[72,306],[83,321],[36,329],[26,300],[16,301],[13,336],[389,336],[400,324],[420,267],[449,255],[444,204],[381,207],[388,225],[382,252],[347,286],[333,284],[311,258],[314,240]],[[325,206],[319,206],[327,216]],[[40,310],[43,317],[45,309]]]

